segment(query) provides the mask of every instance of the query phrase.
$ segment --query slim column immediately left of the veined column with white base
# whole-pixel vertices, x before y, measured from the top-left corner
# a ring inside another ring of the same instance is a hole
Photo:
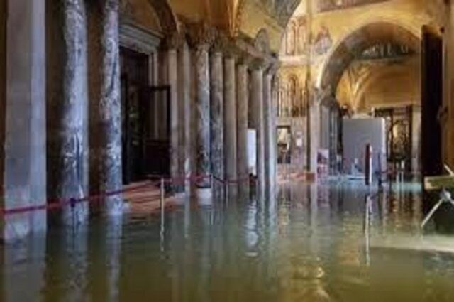
[[[183,126],[183,138],[182,142],[184,149],[182,149],[183,162],[183,173],[184,176],[189,178],[192,174],[192,124],[193,119],[192,106],[191,106],[191,58],[189,53],[189,47],[184,41],[179,48],[178,53],[178,86],[179,86],[179,106],[182,107],[182,122],[180,125]],[[181,167],[180,167],[181,168]],[[191,183],[186,180],[185,190],[189,193]]]

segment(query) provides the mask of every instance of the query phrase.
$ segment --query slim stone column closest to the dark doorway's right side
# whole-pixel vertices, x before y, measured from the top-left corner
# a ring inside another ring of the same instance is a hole
[[[178,70],[177,70],[177,48],[179,46],[179,36],[172,34],[165,43],[165,79],[166,85],[170,86],[170,176],[179,176],[179,102],[178,102]],[[179,185],[173,186],[179,192]]]

